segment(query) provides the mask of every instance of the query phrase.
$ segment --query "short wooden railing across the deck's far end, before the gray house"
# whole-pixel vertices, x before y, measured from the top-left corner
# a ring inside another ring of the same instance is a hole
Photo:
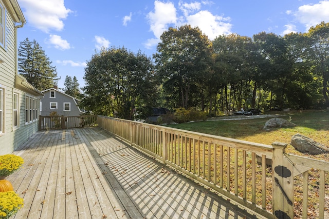
[[[97,115],[40,116],[39,130],[97,126]]]

